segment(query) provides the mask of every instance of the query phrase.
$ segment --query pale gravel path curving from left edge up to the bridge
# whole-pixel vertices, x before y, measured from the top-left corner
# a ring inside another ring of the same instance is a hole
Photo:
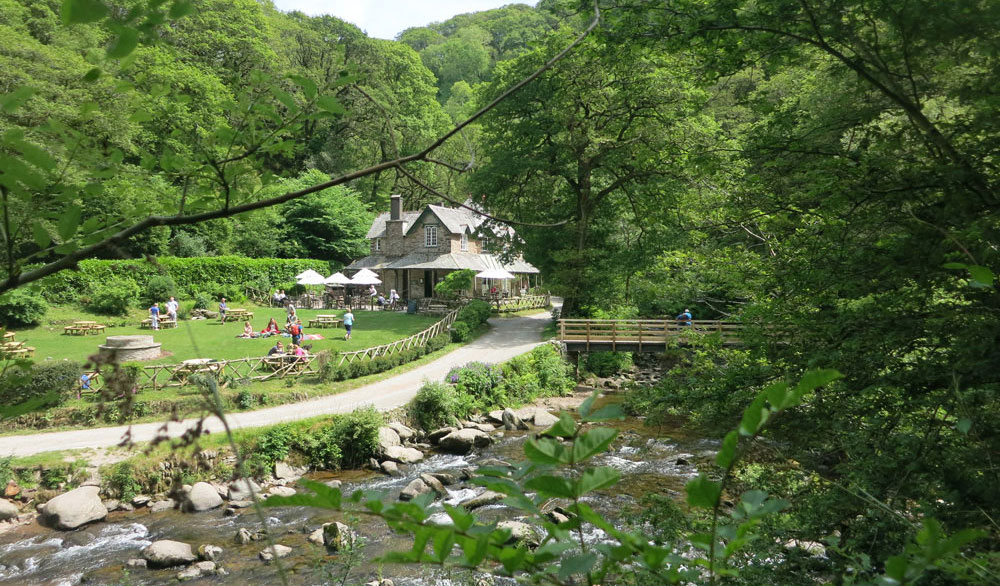
[[[503,362],[531,350],[541,343],[541,332],[550,319],[549,313],[530,317],[493,318],[490,320],[490,331],[478,340],[409,372],[338,395],[233,413],[227,419],[231,428],[239,429],[274,425],[317,415],[350,413],[358,407],[368,405],[373,405],[379,411],[390,411],[408,403],[425,380],[443,380],[454,366],[477,360]],[[168,433],[171,437],[177,437],[193,425],[193,420],[170,423]],[[205,426],[212,433],[223,432],[222,422],[215,417],[206,421]],[[162,423],[141,423],[131,427],[123,425],[0,437],[0,457],[30,456],[54,450],[107,448],[118,445],[129,429],[132,441],[149,441],[160,433],[162,427]]]

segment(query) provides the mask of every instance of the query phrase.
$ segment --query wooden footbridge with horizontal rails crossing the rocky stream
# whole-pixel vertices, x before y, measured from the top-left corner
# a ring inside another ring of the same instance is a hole
[[[743,324],[716,320],[561,319],[559,341],[568,352],[662,352],[669,344],[687,344],[715,334],[726,346],[738,346]],[[691,325],[687,325],[690,323]]]

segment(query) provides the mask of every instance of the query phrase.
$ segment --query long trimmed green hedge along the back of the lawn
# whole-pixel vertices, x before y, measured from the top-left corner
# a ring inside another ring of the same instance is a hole
[[[107,283],[120,279],[134,282],[145,291],[153,277],[167,276],[185,297],[204,292],[215,295],[253,285],[261,290],[287,283],[306,269],[327,273],[330,264],[322,260],[299,258],[246,258],[210,256],[201,258],[160,257],[155,264],[142,259],[82,260],[78,271],[62,271],[42,279],[42,295],[52,303],[74,303],[88,293],[89,283]]]

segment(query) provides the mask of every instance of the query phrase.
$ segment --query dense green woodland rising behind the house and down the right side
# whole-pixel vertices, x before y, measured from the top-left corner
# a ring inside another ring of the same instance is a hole
[[[7,289],[150,215],[419,153],[594,18],[543,0],[383,41],[266,1],[103,6],[0,0]],[[1000,581],[1000,3],[600,6],[582,43],[433,161],[158,222],[89,256],[349,262],[390,194],[471,197],[511,222],[566,315],[690,307],[751,326],[745,347],[677,351],[673,376],[630,399],[652,420],[725,430],[774,381],[843,374],[733,471],[734,492],[790,503],[754,555],[830,538],[828,557],[727,580],[868,583],[906,551],[938,566],[921,584]],[[664,508],[650,504],[664,539],[701,522]],[[928,519],[981,533],[938,559],[914,545]]]

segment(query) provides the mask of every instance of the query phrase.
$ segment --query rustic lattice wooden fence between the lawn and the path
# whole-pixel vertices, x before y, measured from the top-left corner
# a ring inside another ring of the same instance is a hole
[[[340,356],[340,360],[337,362],[337,365],[358,360],[371,360],[379,356],[391,356],[396,352],[424,346],[428,340],[445,332],[451,324],[455,323],[458,312],[459,310],[455,309],[429,328],[402,340],[372,348],[365,348],[364,350],[338,352],[336,356]],[[294,357],[288,356],[282,358],[261,356],[258,358],[237,358],[235,360],[218,360],[198,364],[154,364],[144,366],[140,370],[138,387],[139,389],[151,388],[154,390],[163,387],[179,387],[187,384],[189,379],[194,375],[212,376],[217,380],[264,381],[272,378],[317,374],[319,372],[317,367],[318,364],[315,355],[309,356],[304,360],[301,358],[295,360]]]

